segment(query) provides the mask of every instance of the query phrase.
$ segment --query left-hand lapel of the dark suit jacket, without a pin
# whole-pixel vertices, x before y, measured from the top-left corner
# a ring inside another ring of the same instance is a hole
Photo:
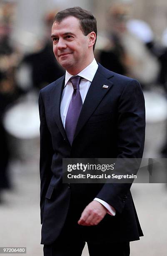
[[[60,115],[60,103],[62,98],[62,90],[65,84],[65,75],[60,78],[60,80],[55,84],[55,86],[50,91],[50,102],[52,102],[52,114],[55,122],[62,133],[63,138],[67,139],[65,128],[62,124],[62,119]]]

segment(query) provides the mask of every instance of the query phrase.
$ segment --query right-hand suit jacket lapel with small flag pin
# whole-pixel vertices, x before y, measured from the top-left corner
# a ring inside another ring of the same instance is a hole
[[[100,104],[102,98],[111,89],[113,83],[110,82],[107,78],[110,78],[112,76],[112,72],[108,71],[99,64],[95,77],[92,80],[84,104],[82,106],[74,138],[77,136],[77,134],[80,132],[80,130],[90,118],[92,113],[95,111],[97,106]],[[103,85],[108,86],[108,88],[104,88]]]

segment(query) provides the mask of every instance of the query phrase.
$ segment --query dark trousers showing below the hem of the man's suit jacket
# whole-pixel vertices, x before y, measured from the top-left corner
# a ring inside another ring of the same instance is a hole
[[[44,245],[44,256],[81,256],[84,241]],[[90,256],[130,256],[130,243],[91,244],[87,243]]]

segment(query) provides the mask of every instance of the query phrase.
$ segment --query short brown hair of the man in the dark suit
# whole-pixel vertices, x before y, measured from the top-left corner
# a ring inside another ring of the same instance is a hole
[[[97,38],[97,22],[96,18],[87,10],[84,10],[80,7],[67,8],[58,12],[53,20],[53,22],[60,23],[63,19],[73,16],[80,20],[80,26],[83,34],[87,36],[90,32],[94,31]],[[96,40],[95,40],[96,44]],[[93,50],[95,49],[95,44]]]

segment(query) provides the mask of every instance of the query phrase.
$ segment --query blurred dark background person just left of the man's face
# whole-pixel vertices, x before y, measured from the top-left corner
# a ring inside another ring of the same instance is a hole
[[[38,47],[33,53],[26,54],[23,57],[19,65],[17,79],[21,87],[36,88],[39,91],[64,74],[64,70],[55,59],[52,51],[52,41],[50,40],[55,13],[57,13],[56,10],[45,15],[44,38],[39,41]]]

